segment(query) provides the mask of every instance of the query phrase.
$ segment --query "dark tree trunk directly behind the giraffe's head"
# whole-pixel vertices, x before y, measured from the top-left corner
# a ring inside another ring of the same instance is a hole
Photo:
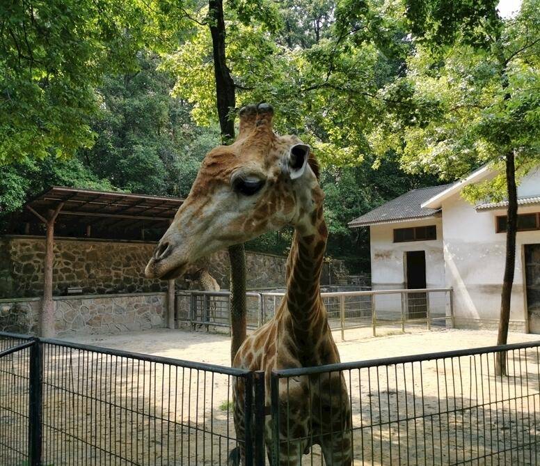
[[[235,109],[235,83],[227,68],[225,56],[225,20],[223,0],[209,0],[209,25],[214,52],[214,76],[216,78],[216,102],[224,144],[235,138],[235,122],[231,111]],[[234,362],[238,348],[246,338],[246,258],[244,244],[229,248],[231,327],[232,341],[230,362]]]

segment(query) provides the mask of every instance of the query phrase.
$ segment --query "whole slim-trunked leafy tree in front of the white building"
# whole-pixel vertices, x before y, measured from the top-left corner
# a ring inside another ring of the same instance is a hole
[[[399,123],[388,118],[373,137],[386,139],[383,150],[392,141],[412,172],[452,178],[491,163],[503,173],[491,189],[484,185],[468,195],[501,197],[494,188],[506,190],[507,254],[497,340],[504,344],[516,254],[516,166],[518,174],[525,173],[539,154],[540,10],[537,1],[525,0],[514,20],[503,20],[495,3],[452,2],[450,8],[446,2],[408,1],[417,52],[406,77],[383,91],[404,104],[397,107]],[[505,373],[504,357],[498,371]]]

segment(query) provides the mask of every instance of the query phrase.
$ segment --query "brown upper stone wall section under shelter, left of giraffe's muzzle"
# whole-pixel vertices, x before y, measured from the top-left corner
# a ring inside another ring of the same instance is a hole
[[[53,295],[65,295],[68,287],[81,287],[88,295],[165,291],[166,281],[148,280],[143,274],[154,247],[143,242],[55,239]],[[0,258],[0,298],[42,294],[43,238],[3,238]]]

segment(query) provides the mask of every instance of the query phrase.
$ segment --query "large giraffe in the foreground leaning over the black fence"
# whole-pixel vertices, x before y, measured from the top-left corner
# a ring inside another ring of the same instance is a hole
[[[275,316],[240,346],[233,366],[264,371],[267,408],[271,371],[340,362],[321,300],[319,279],[328,229],[319,166],[296,136],[273,132],[269,104],[239,111],[238,137],[203,160],[198,176],[174,222],[145,268],[151,278],[183,274],[190,263],[283,226],[294,227],[287,259],[287,290]],[[319,444],[327,466],[352,464],[351,411],[339,373],[280,379],[278,458],[271,457],[272,425],[264,425],[271,464],[298,465]],[[244,438],[244,386],[233,389],[237,437]],[[241,444],[242,445],[242,444]],[[244,464],[244,447],[239,448]]]

